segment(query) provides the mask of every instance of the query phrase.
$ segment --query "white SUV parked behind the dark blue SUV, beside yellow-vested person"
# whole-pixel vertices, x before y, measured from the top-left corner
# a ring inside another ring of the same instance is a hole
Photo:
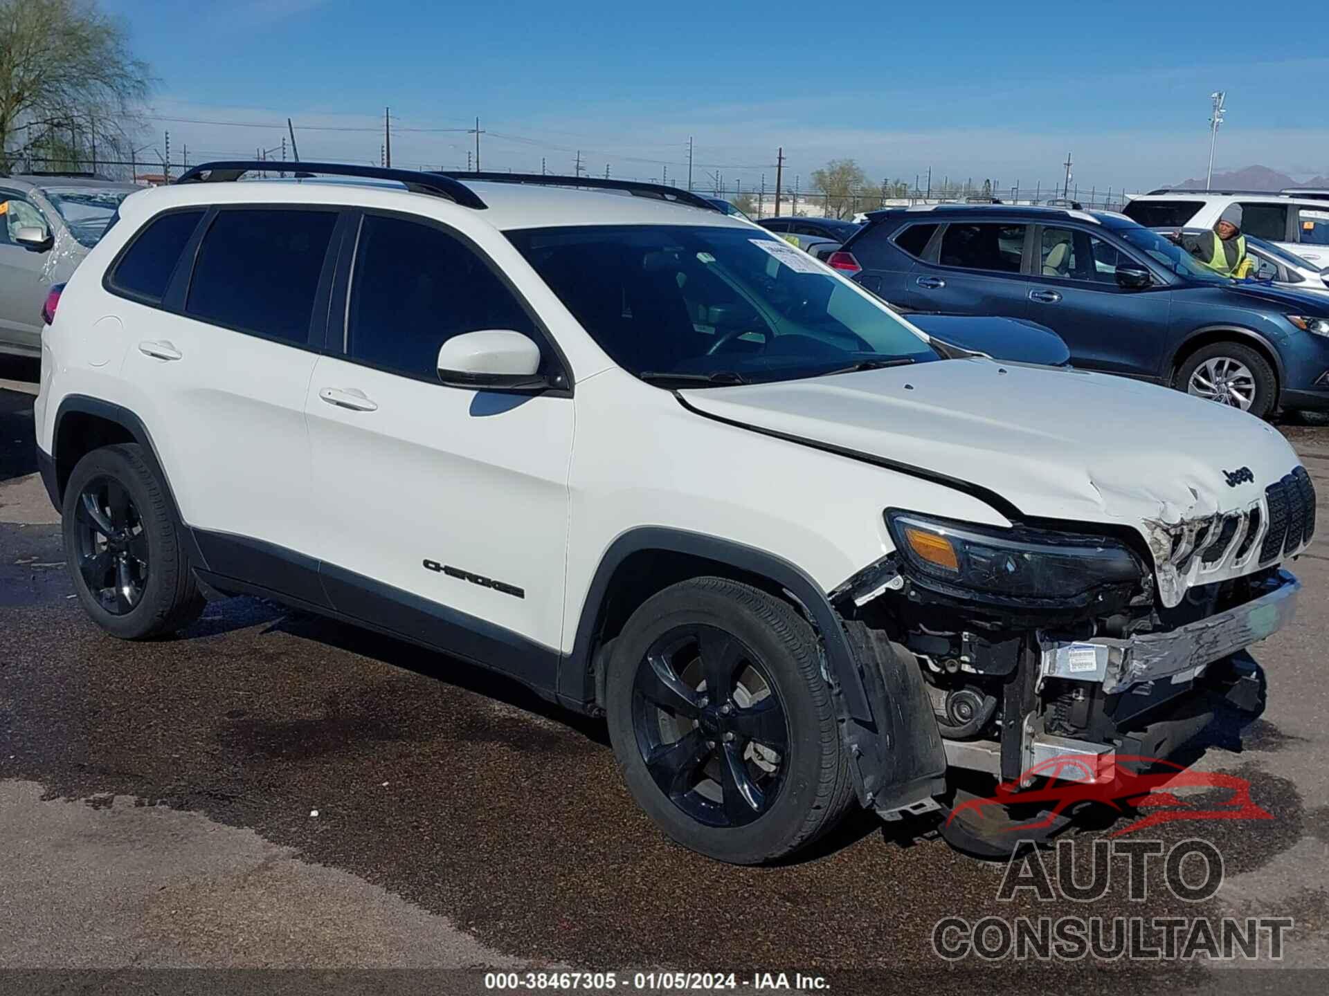
[[[1136,197],[1123,212],[1146,228],[1212,228],[1241,205],[1241,231],[1288,250],[1314,268],[1329,267],[1329,194],[1252,190],[1172,190]]]

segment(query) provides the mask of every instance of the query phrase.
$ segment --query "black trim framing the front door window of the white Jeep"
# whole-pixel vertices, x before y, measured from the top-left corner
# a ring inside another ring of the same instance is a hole
[[[380,364],[368,363],[365,360],[356,360],[355,357],[351,356],[348,349],[351,341],[350,339],[351,295],[355,291],[354,287],[355,280],[352,278],[355,274],[355,263],[360,254],[360,238],[364,231],[364,218],[368,215],[373,215],[376,218],[395,218],[397,220],[412,222],[415,224],[423,224],[427,227],[437,228],[445,235],[460,242],[462,246],[470,250],[476,255],[476,258],[480,259],[480,262],[489,270],[489,272],[498,279],[498,283],[501,283],[513,296],[513,300],[516,300],[517,305],[526,313],[526,317],[530,319],[532,325],[534,327],[536,331],[537,345],[540,345],[541,349],[548,347],[549,356],[554,361],[553,365],[558,368],[557,371],[552,372],[552,380],[557,384],[558,380],[561,378],[562,380],[561,386],[537,389],[532,393],[538,393],[541,397],[566,397],[566,398],[573,397],[573,390],[575,386],[573,381],[573,372],[571,372],[573,368],[571,364],[567,363],[567,357],[563,355],[562,348],[558,345],[558,340],[554,339],[554,336],[550,333],[549,325],[545,324],[545,320],[541,317],[540,312],[532,305],[532,303],[526,299],[526,295],[518,290],[517,284],[513,283],[512,278],[509,278],[508,274],[504,272],[504,270],[493,262],[490,255],[485,252],[473,238],[470,238],[464,231],[460,231],[459,228],[455,228],[453,226],[445,222],[440,222],[437,218],[427,218],[425,215],[411,214],[408,211],[392,211],[387,208],[375,207],[375,208],[354,208],[354,214],[355,219],[347,226],[348,227],[347,239],[351,242],[351,251],[343,252],[342,258],[338,260],[338,274],[336,274],[336,280],[334,283],[332,300],[330,301],[328,305],[327,349],[326,349],[326,353],[328,356],[334,356],[338,360],[342,360],[343,363],[355,364],[356,367],[365,367],[372,371],[389,373],[393,377],[404,377],[407,380],[419,381],[421,384],[432,384],[437,388],[444,388],[449,390],[470,390],[470,392],[480,390],[481,393],[484,392],[484,388],[462,388],[457,385],[444,384],[443,381],[439,380],[437,373],[435,373],[432,377],[427,373],[420,373],[420,374],[405,373],[403,371],[384,367]],[[340,343],[335,341],[336,324],[332,317],[334,313],[340,315],[340,321],[342,321]]]

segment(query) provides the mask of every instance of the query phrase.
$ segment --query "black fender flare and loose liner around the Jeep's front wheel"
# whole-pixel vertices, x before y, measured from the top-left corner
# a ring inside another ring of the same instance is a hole
[[[851,633],[827,592],[803,568],[758,547],[663,526],[643,526],[619,535],[595,568],[573,651],[560,663],[560,699],[581,708],[594,703],[591,655],[609,584],[623,560],[645,550],[715,560],[766,578],[788,592],[821,636],[823,677],[840,718],[860,802],[892,814],[914,806],[932,807],[930,797],[945,788],[946,758],[913,661],[892,653],[884,635],[874,640],[864,632]],[[878,641],[881,645],[876,645]]]

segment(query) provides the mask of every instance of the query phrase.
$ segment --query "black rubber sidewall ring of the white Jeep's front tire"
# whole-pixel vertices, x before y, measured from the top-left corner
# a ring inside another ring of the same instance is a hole
[[[649,622],[637,624],[643,616]],[[780,794],[769,810],[744,826],[706,826],[683,813],[655,785],[637,742],[633,687],[638,664],[659,636],[687,624],[714,625],[744,643],[759,659],[789,725],[789,750],[784,758],[789,768]],[[813,647],[807,647],[805,652],[813,652]],[[718,592],[699,590],[664,591],[647,600],[614,645],[605,699],[609,734],[623,780],[638,805],[674,841],[720,861],[750,865],[785,850],[787,842],[799,833],[807,806],[816,795],[821,769],[817,752],[821,717],[807,693],[791,648],[744,606]]]

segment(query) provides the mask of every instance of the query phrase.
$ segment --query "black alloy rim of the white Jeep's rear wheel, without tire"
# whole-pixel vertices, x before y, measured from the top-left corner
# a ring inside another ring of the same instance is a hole
[[[112,615],[132,612],[148,587],[148,534],[122,483],[94,477],[74,506],[78,572],[89,594]]]

